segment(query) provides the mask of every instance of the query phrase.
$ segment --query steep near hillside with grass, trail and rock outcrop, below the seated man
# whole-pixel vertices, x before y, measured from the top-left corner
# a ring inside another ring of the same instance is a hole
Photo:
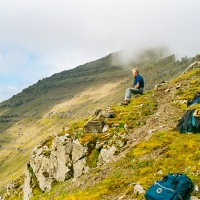
[[[128,106],[100,111],[89,129],[77,121],[43,140],[31,153],[24,191],[33,192],[31,199],[139,200],[144,197],[136,187],[144,192],[167,173],[185,173],[198,188],[200,135],[175,129],[186,100],[200,92],[200,65],[196,67],[133,98]],[[103,133],[88,132],[102,120]],[[19,182],[10,184],[8,199],[15,192],[21,194]]]

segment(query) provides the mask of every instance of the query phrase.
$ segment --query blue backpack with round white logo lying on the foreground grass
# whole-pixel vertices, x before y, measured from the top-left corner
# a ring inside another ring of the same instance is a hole
[[[168,174],[145,193],[146,200],[189,200],[194,184],[185,174]]]

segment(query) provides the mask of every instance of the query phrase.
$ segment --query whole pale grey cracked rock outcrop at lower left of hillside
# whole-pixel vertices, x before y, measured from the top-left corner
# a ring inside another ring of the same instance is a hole
[[[88,147],[68,135],[55,137],[51,148],[46,144],[35,147],[25,171],[24,200],[33,195],[34,178],[42,191],[49,191],[53,182],[77,178],[87,172],[87,154]]]

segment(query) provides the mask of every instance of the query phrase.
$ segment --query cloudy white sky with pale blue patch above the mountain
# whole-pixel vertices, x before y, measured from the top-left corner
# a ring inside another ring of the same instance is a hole
[[[0,102],[127,49],[200,53],[200,0],[0,0]]]

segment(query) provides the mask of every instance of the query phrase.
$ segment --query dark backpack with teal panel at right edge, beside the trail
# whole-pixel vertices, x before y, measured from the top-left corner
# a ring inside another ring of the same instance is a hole
[[[187,110],[177,125],[180,133],[200,133],[200,118],[194,117],[195,110]]]

